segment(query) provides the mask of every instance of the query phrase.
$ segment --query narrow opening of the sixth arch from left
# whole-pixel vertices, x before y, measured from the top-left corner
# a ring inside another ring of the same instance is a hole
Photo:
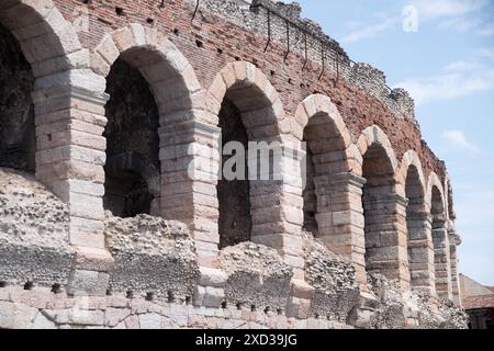
[[[405,180],[406,229],[411,285],[414,288],[430,290],[429,216],[424,211],[425,194],[417,167],[411,165]]]

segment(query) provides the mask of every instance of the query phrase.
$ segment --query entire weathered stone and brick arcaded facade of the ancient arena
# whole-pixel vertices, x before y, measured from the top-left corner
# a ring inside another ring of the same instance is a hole
[[[408,94],[295,4],[0,4],[0,327],[464,327]],[[229,139],[279,143],[281,179],[218,182]]]

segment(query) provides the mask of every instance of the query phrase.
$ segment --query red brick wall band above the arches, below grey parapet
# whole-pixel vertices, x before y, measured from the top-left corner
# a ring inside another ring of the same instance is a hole
[[[77,0],[54,2],[69,21],[74,21],[78,13],[75,8],[82,5],[81,1]],[[265,35],[247,32],[203,11],[191,22],[194,8],[187,0],[166,1],[162,9],[159,9],[158,4],[157,0],[119,0],[113,3],[93,1],[87,5],[90,13],[90,32],[80,32],[80,41],[85,47],[93,49],[105,33],[128,23],[154,26],[168,35],[187,57],[203,88],[211,84],[227,63],[235,59],[255,63],[280,93],[289,115],[294,115],[297,104],[307,95],[314,92],[324,93],[338,106],[353,141],[368,126],[379,125],[389,136],[398,159],[408,149],[414,149],[420,156],[426,177],[433,171],[441,179],[446,176],[444,163],[422,140],[420,131],[414,123],[397,118],[384,103],[341,78],[335,84],[336,75],[329,69],[318,80],[321,63],[310,61],[302,71],[304,58],[295,53],[291,53],[283,61],[285,44],[271,42],[263,53],[267,44]],[[123,15],[115,13],[115,7],[123,9]],[[154,19],[154,23],[147,23],[147,19]],[[176,30],[178,34],[175,34]],[[197,41],[203,43],[202,47],[198,47]],[[222,49],[223,54],[218,54],[217,49]],[[274,75],[271,76],[271,72]]]

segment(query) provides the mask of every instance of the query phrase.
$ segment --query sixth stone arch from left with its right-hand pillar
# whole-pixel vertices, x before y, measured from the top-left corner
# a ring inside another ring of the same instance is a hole
[[[400,173],[408,200],[406,229],[411,285],[416,291],[435,294],[431,217],[426,207],[427,183],[417,152],[405,152]]]

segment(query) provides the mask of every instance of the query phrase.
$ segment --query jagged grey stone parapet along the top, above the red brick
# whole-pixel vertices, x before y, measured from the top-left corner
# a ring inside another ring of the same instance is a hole
[[[287,55],[294,53],[306,63],[318,64],[322,76],[332,71],[338,79],[346,79],[378,98],[397,118],[406,118],[418,125],[415,120],[415,103],[408,92],[400,88],[391,89],[381,70],[369,64],[351,60],[339,43],[326,35],[319,24],[302,18],[299,3],[252,0],[246,1],[251,2],[247,9],[236,0],[189,1],[192,5],[198,5],[198,11],[212,12],[266,36],[266,49],[273,42],[285,45]]]

